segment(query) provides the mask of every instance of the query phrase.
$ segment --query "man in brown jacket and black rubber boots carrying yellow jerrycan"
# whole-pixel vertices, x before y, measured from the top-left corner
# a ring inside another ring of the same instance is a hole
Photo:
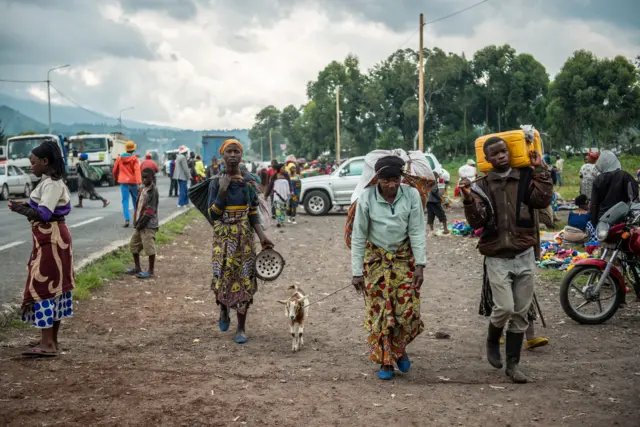
[[[488,138],[483,151],[492,169],[473,184],[463,179],[460,190],[469,225],[482,229],[478,249],[485,256],[493,298],[487,359],[494,368],[502,368],[500,338],[507,326],[506,374],[515,383],[526,383],[518,364],[533,299],[538,249],[534,211],[549,206],[553,183],[537,151],[530,152],[531,166],[522,168],[511,167],[507,144],[499,136]]]

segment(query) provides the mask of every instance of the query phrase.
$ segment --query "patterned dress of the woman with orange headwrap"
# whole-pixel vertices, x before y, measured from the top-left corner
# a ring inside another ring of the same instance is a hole
[[[226,198],[218,197],[218,179],[209,185],[209,216],[213,220],[211,290],[216,303],[245,314],[258,291],[255,275],[254,226],[259,223],[258,195],[244,174],[232,182]]]

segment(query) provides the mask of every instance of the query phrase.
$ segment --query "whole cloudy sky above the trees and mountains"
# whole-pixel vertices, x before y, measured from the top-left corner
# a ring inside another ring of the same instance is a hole
[[[91,110],[249,127],[268,104],[304,103],[306,83],[331,60],[351,52],[367,69],[405,42],[417,48],[420,12],[429,21],[478,1],[0,0],[0,78],[43,80],[68,63],[53,84]],[[577,49],[640,55],[639,16],[639,0],[488,0],[427,26],[425,45],[471,56],[509,43],[553,76]],[[39,84],[0,92],[46,99]]]

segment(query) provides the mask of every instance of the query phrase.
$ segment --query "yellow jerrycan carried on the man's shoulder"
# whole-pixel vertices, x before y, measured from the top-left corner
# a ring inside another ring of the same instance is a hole
[[[540,132],[536,129],[520,129],[510,130],[500,133],[492,133],[490,135],[484,135],[476,139],[476,163],[478,170],[482,173],[487,173],[491,170],[491,163],[489,163],[484,155],[484,143],[492,136],[498,136],[507,143],[507,148],[511,154],[511,167],[523,168],[531,166],[531,159],[529,153],[531,151],[537,151],[542,156],[542,138],[540,138]]]

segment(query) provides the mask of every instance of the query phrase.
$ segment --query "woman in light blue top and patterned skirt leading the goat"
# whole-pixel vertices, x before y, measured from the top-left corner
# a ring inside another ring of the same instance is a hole
[[[378,184],[358,197],[351,235],[352,283],[364,294],[369,358],[381,380],[393,378],[394,363],[409,370],[407,346],[424,330],[424,206],[417,189],[401,184],[404,164],[397,156],[376,162]]]

